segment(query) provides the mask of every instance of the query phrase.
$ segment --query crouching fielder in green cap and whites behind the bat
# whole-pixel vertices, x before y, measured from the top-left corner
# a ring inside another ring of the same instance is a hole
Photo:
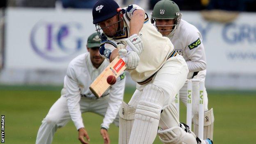
[[[72,119],[78,130],[78,139],[82,144],[88,144],[89,135],[85,130],[81,113],[94,112],[103,116],[100,133],[104,144],[110,144],[107,129],[110,123],[119,126],[118,112],[123,100],[125,77],[117,78],[101,98],[96,99],[89,90],[91,83],[109,65],[109,62],[99,55],[101,39],[97,33],[91,34],[87,40],[88,53],[75,57],[69,64],[64,78],[61,97],[50,108],[43,119],[37,133],[36,144],[51,144],[57,128],[65,126]]]

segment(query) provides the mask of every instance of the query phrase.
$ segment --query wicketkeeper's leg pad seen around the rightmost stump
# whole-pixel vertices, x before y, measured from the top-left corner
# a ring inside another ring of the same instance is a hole
[[[198,136],[198,113],[194,114],[193,117],[194,123],[194,133]],[[213,139],[213,123],[214,123],[214,115],[213,108],[204,112],[203,114],[203,139]]]

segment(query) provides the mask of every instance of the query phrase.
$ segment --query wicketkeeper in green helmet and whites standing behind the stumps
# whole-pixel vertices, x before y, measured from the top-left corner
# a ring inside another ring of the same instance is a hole
[[[201,79],[206,77],[206,55],[202,43],[202,36],[194,25],[181,19],[181,12],[178,5],[171,0],[161,0],[156,3],[151,16],[157,30],[164,36],[168,37],[174,44],[174,49],[182,55],[187,63],[189,73],[187,79]],[[193,83],[193,106],[192,117],[194,123],[194,133],[198,135],[198,99],[199,85]],[[204,98],[204,139],[213,139],[213,108],[208,110],[208,97],[206,89],[203,94]],[[187,83],[180,90],[181,101],[187,103]]]

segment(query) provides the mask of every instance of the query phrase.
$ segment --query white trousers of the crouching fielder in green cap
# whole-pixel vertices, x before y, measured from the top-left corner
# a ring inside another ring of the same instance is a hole
[[[101,116],[105,116],[108,106],[109,96],[99,99],[91,99],[81,97],[80,110],[81,112],[93,112]],[[61,128],[71,120],[69,109],[67,106],[66,98],[61,96],[50,108],[48,114],[43,119],[42,124],[37,133],[36,144],[51,144],[53,135],[57,128]],[[119,116],[117,115],[113,123],[119,126]]]

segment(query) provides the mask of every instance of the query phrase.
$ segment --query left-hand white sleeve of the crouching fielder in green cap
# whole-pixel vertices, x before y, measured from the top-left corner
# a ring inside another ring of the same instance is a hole
[[[66,89],[65,96],[71,119],[74,122],[77,130],[79,128],[84,128],[84,124],[82,122],[82,114],[79,105],[79,101],[81,98],[80,89],[78,86],[78,80],[75,76],[75,71],[70,65],[64,78],[64,88]]]

